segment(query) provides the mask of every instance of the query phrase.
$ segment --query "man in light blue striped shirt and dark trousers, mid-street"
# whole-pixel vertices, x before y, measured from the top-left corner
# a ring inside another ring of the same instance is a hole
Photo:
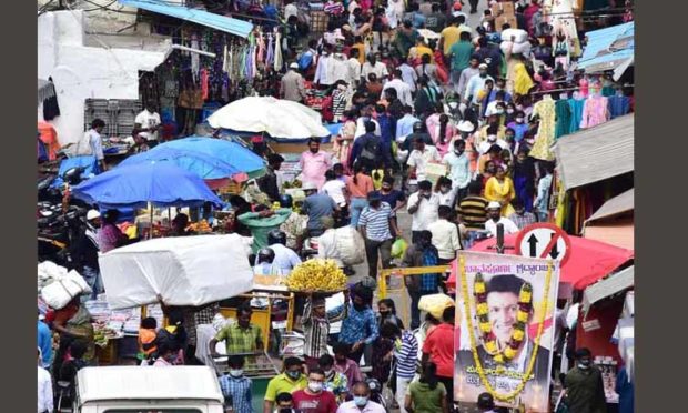
[[[358,231],[365,240],[365,255],[368,261],[368,275],[377,279],[377,259],[382,255],[383,268],[389,266],[392,259],[392,232],[401,232],[392,219],[392,206],[382,202],[380,192],[372,191],[367,195],[368,206],[363,209],[358,219]]]

